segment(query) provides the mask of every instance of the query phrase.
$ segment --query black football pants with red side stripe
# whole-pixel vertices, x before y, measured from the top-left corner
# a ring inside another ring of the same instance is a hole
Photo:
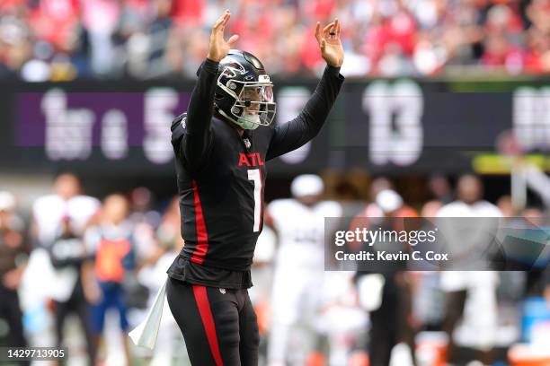
[[[193,366],[257,366],[260,335],[247,290],[169,279],[166,297]]]

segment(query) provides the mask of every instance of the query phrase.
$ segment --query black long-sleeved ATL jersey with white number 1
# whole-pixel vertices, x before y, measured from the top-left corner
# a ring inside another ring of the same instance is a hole
[[[244,130],[242,136],[231,122],[213,117],[216,76],[217,63],[207,59],[187,113],[172,124],[185,244],[168,274],[188,283],[248,288],[262,231],[266,162],[318,134],[343,76],[339,68],[327,66],[297,118]]]

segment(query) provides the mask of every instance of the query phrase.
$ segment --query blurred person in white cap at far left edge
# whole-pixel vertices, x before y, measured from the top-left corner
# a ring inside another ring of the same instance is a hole
[[[23,235],[24,224],[14,209],[13,195],[0,192],[0,318],[8,325],[6,345],[26,347],[17,289],[31,248]]]

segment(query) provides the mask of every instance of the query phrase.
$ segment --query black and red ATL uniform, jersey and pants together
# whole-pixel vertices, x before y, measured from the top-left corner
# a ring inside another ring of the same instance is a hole
[[[318,134],[343,76],[327,66],[297,118],[241,136],[231,122],[213,117],[217,68],[205,61],[187,114],[172,125],[185,245],[167,271],[167,296],[193,365],[254,365],[258,331],[246,289],[262,231],[266,162]]]

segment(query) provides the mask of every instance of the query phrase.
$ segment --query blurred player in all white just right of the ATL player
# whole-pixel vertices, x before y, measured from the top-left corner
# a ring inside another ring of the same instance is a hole
[[[312,335],[300,340],[314,338],[323,301],[324,218],[342,215],[340,204],[320,201],[323,190],[318,176],[302,175],[292,182],[294,198],[275,200],[267,208],[266,223],[279,236],[271,297],[271,366],[304,362],[297,358],[305,354],[297,353],[307,345],[296,344],[292,335],[297,329]]]

